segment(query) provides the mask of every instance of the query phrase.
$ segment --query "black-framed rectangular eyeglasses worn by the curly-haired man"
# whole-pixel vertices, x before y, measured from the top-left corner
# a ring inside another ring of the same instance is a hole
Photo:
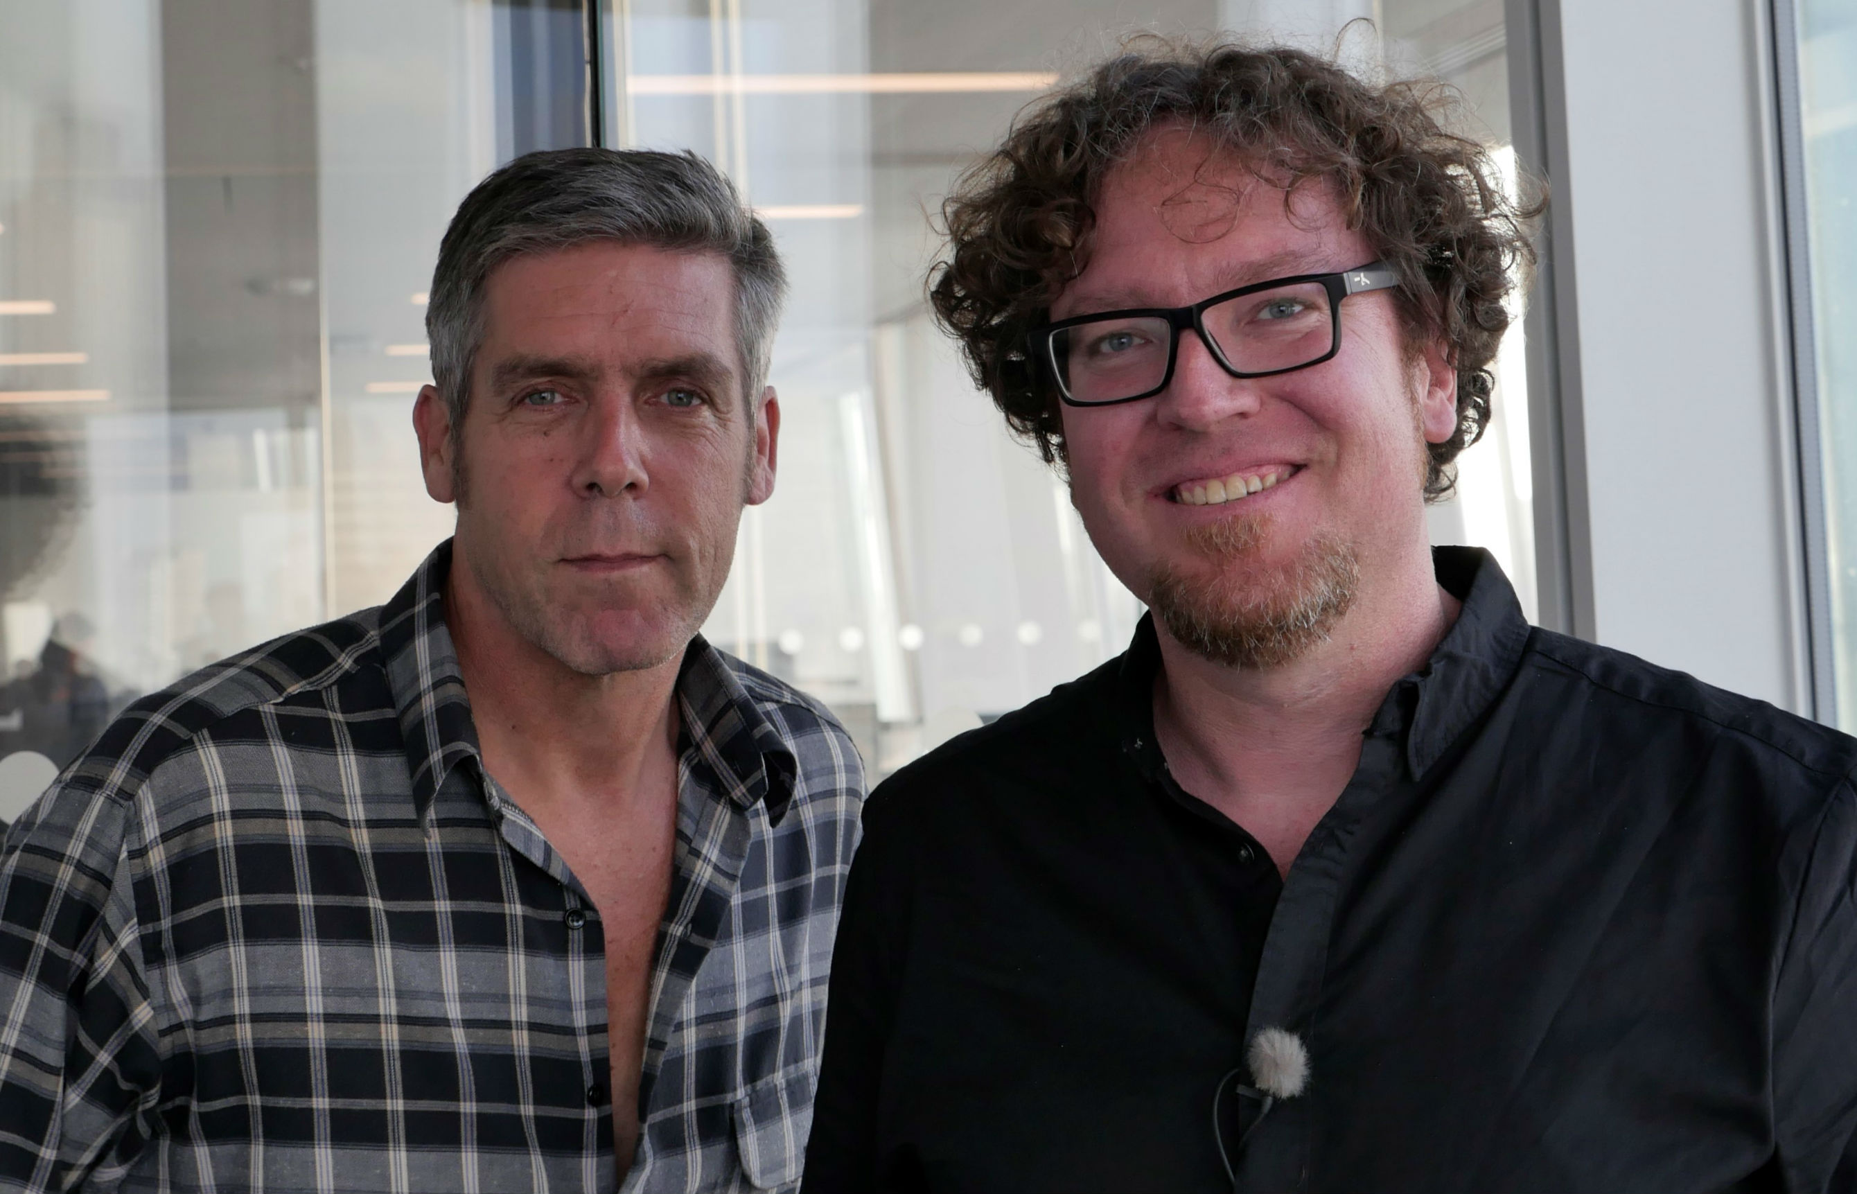
[[[1051,370],[1071,407],[1153,397],[1174,381],[1179,336],[1194,331],[1233,377],[1270,377],[1322,364],[1341,351],[1341,301],[1398,286],[1385,262],[1341,273],[1304,273],[1213,295],[1192,306],[1105,310],[1031,332],[1032,360]]]

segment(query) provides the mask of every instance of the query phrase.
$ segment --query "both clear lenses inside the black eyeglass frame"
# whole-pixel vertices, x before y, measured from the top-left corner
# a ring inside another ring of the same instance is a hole
[[[1274,373],[1320,360],[1335,342],[1328,290],[1278,286],[1205,308],[1201,321],[1239,373]],[[1051,360],[1077,403],[1112,403],[1166,379],[1174,329],[1157,316],[1092,319],[1051,334]]]

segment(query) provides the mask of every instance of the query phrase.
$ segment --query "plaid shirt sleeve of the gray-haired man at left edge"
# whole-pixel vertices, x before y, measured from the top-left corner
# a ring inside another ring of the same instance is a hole
[[[115,1185],[152,1131],[130,802],[56,784],[0,850],[0,1190]]]

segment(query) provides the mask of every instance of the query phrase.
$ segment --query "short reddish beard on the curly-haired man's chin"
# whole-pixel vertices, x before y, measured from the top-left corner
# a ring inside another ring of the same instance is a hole
[[[1268,514],[1235,514],[1185,539],[1211,566],[1159,565],[1149,607],[1175,642],[1213,663],[1281,667],[1324,642],[1354,605],[1359,561],[1333,535],[1317,535],[1287,565],[1263,559]]]

